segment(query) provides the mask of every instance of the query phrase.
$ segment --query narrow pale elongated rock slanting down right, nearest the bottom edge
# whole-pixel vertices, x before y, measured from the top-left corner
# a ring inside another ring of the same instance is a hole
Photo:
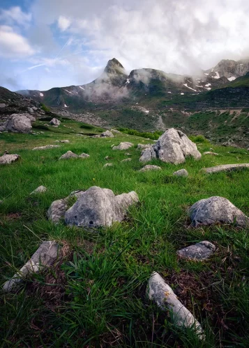
[[[174,324],[179,327],[193,329],[200,339],[204,339],[202,326],[190,311],[183,306],[183,303],[177,299],[176,294],[160,274],[153,272],[149,278],[149,299],[156,302],[158,307],[165,312],[172,314]]]

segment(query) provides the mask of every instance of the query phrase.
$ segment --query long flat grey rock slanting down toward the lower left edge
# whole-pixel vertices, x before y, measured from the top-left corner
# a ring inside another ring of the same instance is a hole
[[[24,264],[20,271],[3,285],[4,292],[10,292],[27,277],[28,274],[38,273],[44,267],[49,267],[56,260],[59,244],[54,241],[46,241],[40,244],[36,253]]]

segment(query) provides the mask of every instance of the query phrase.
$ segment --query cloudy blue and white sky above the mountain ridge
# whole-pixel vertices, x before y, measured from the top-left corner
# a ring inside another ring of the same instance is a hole
[[[196,74],[249,57],[248,0],[0,0],[0,86],[86,84],[127,72]]]

